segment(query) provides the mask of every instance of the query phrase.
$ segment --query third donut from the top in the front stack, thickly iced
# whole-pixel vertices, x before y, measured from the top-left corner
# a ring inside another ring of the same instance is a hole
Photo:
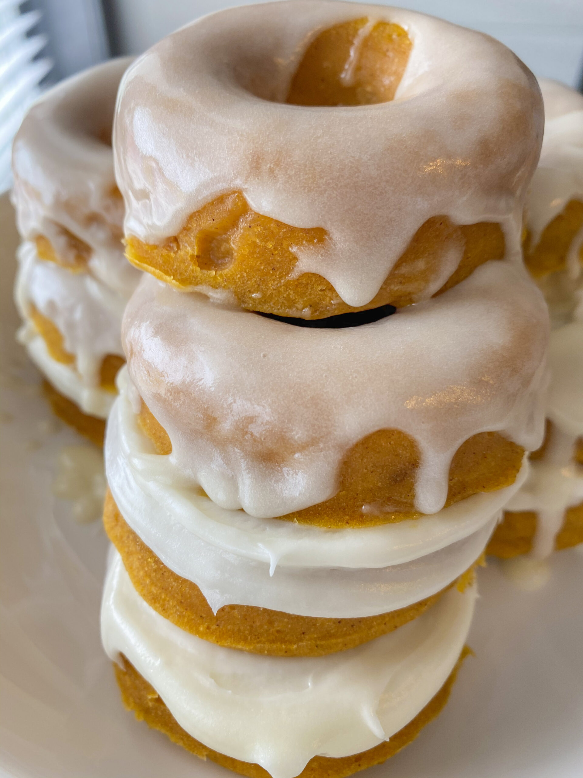
[[[433,517],[361,530],[253,520],[191,492],[180,499],[171,470],[164,474],[160,457],[148,453],[125,378],[105,451],[115,496],[106,500],[107,534],[145,601],[182,629],[229,647],[328,654],[415,618],[460,576],[467,580],[526,475]],[[293,640],[299,632],[304,638]]]

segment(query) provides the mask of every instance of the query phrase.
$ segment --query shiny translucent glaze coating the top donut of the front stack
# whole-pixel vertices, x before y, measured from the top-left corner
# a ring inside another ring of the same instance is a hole
[[[413,43],[396,99],[283,103],[313,37],[365,15]],[[501,223],[518,260],[542,135],[536,80],[496,40],[403,9],[292,0],[218,12],[155,44],[122,80],[113,145],[126,234],[159,243],[238,189],[256,212],[325,228],[326,247],[298,248],[295,272],[360,306],[431,216]]]

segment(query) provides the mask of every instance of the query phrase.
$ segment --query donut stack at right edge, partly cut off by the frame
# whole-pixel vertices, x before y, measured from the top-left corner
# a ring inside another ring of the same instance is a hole
[[[543,447],[488,547],[507,559],[583,542],[583,95],[555,81],[540,87],[546,124],[524,251],[550,309],[551,385]]]

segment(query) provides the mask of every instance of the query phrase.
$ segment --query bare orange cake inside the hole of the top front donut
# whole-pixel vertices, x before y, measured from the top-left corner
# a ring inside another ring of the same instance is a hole
[[[312,40],[292,78],[286,103],[357,106],[393,100],[411,51],[398,24],[363,17],[329,27]]]

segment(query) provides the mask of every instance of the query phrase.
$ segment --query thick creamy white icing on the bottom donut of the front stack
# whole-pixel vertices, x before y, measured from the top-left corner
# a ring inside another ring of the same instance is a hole
[[[389,635],[326,657],[264,657],[208,643],[139,597],[113,553],[103,593],[107,654],[154,687],[176,721],[222,754],[292,778],[314,755],[346,756],[399,731],[435,696],[465,643],[472,588]]]

